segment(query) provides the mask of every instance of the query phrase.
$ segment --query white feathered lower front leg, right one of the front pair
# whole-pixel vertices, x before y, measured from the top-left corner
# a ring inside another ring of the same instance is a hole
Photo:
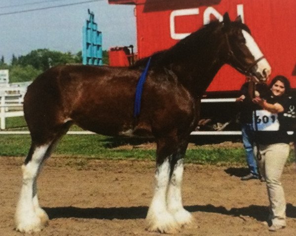
[[[168,210],[174,215],[177,223],[180,226],[189,224],[192,221],[191,213],[185,210],[182,204],[181,185],[183,178],[183,170],[184,164],[182,158],[179,159],[174,166],[174,170],[169,182],[167,195]]]

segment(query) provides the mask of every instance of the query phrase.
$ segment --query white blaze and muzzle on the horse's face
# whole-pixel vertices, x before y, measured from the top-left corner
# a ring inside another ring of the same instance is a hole
[[[251,36],[251,34],[248,33],[246,30],[242,30],[242,33],[244,35],[244,38],[246,39],[246,46],[248,47],[248,49],[252,53],[254,59],[257,60],[257,59],[261,58],[263,56],[263,53],[259,49],[259,46],[255,42],[255,40]],[[262,75],[262,77],[265,77],[265,76],[268,77],[270,75],[271,67],[265,58],[259,60],[257,65],[258,65],[257,72],[259,72]]]

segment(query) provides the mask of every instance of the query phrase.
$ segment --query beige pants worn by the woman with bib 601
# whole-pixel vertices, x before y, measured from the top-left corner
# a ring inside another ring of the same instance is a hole
[[[266,179],[269,198],[269,220],[273,225],[286,226],[286,200],[281,176],[290,151],[289,144],[259,145],[261,159],[258,161],[260,174]],[[257,147],[254,145],[255,155]]]

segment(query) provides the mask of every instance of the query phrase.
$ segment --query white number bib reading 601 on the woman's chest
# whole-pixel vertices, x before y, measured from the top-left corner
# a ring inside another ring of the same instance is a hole
[[[257,120],[257,123],[255,120]],[[280,128],[278,114],[272,114],[266,110],[253,112],[253,128],[258,131],[278,131]]]

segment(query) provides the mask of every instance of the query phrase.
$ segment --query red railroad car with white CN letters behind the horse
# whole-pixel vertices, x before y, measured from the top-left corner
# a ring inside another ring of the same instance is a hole
[[[138,58],[173,46],[210,20],[221,20],[226,11],[233,20],[240,15],[270,63],[271,77],[284,75],[296,88],[296,0],[109,0],[109,3],[135,5]],[[243,75],[224,65],[207,89],[207,96],[234,97],[244,82]]]

